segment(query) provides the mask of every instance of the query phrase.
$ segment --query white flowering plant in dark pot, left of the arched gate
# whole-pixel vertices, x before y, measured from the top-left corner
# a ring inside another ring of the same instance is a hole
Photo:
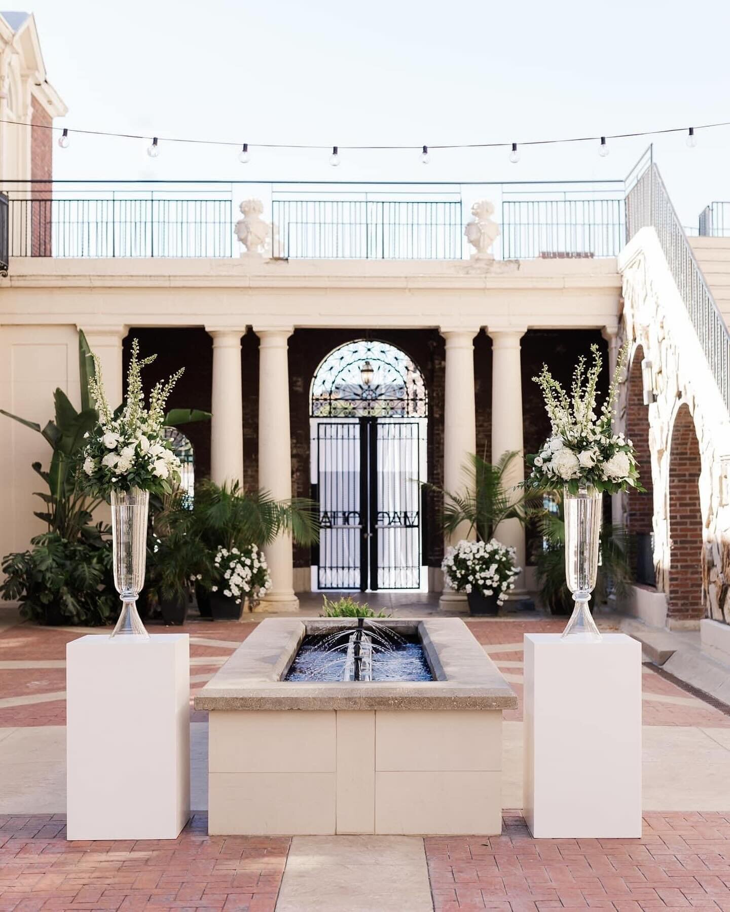
[[[214,620],[237,620],[246,602],[254,606],[271,587],[266,558],[255,544],[230,551],[218,548],[213,579],[210,604]]]

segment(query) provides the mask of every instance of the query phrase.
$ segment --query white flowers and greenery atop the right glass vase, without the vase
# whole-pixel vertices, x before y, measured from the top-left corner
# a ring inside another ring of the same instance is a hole
[[[525,482],[527,488],[555,491],[565,485],[574,494],[581,487],[594,487],[610,494],[630,487],[643,491],[631,440],[621,433],[614,434],[611,429],[627,348],[620,349],[609,394],[598,415],[601,358],[598,346],[592,345],[590,351],[593,364],[587,371],[586,358],[579,358],[569,397],[547,365],[543,365],[539,377],[533,378],[542,389],[551,431],[542,449],[527,456],[527,465],[532,470]]]

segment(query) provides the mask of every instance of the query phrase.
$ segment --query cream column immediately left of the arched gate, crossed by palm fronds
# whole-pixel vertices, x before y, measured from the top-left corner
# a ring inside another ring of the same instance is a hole
[[[254,327],[259,337],[258,484],[277,501],[291,498],[291,432],[287,339],[292,330]],[[266,546],[272,588],[261,602],[266,611],[296,611],[291,535]]]

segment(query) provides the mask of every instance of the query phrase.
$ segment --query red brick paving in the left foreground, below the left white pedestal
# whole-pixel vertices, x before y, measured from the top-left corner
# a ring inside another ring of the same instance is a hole
[[[206,829],[195,814],[174,840],[68,843],[63,816],[0,814],[0,912],[274,912],[290,839]]]

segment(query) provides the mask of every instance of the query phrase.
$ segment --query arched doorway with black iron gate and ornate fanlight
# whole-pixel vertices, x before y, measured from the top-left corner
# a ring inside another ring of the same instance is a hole
[[[312,588],[425,589],[421,370],[390,343],[348,342],[320,363],[309,405],[321,522]]]

